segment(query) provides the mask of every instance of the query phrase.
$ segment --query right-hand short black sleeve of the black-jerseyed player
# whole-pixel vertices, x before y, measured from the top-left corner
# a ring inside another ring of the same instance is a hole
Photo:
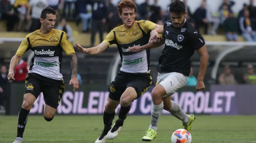
[[[204,39],[202,35],[197,30],[188,31],[188,38],[190,41],[190,45],[198,50],[205,45]]]

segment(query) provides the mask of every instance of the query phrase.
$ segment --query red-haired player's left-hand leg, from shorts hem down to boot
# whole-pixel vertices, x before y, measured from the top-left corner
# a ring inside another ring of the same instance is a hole
[[[95,141],[95,143],[105,143],[107,141],[107,134],[111,130],[111,125],[115,118],[115,110],[119,105],[120,96],[119,99],[116,99],[116,97],[117,96],[113,95],[113,93],[109,93],[108,102],[105,105],[105,110],[103,113],[104,129],[102,130],[100,137],[97,139],[97,141]]]

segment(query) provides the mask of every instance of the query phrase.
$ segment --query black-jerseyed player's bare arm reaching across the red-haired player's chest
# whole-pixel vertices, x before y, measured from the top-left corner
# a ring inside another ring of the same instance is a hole
[[[156,47],[159,47],[161,45],[163,45],[165,43],[165,38],[164,37],[160,37],[160,43],[155,43],[155,42],[150,42],[149,44],[146,44],[146,45],[143,45],[143,46],[133,46],[133,47],[130,47],[127,52],[135,52],[135,53],[138,53],[138,52],[141,52],[143,50],[146,50],[146,49],[150,49],[150,48],[156,48]]]

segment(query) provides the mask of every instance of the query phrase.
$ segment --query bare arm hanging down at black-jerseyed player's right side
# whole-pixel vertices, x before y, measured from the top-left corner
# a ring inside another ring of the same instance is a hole
[[[199,69],[199,74],[198,74],[198,83],[196,85],[197,90],[202,90],[205,89],[204,84],[203,84],[203,79],[206,73],[207,65],[208,65],[208,60],[209,60],[209,55],[207,52],[207,48],[204,45],[200,49],[196,50],[198,54],[201,56],[200,58],[200,69]]]

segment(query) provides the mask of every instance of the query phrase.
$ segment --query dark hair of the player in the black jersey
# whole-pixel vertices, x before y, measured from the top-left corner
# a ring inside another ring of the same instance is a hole
[[[169,4],[169,11],[173,13],[185,13],[185,4],[180,0],[174,0],[172,3]]]

